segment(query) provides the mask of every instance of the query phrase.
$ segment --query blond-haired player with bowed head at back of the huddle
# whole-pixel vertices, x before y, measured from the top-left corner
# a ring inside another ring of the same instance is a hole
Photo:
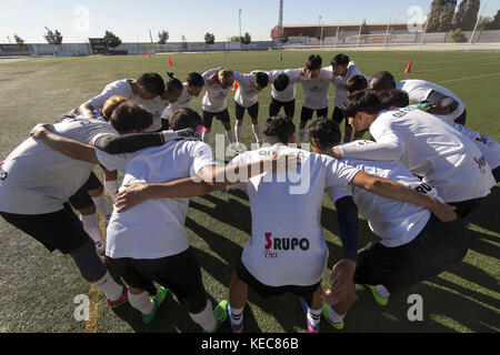
[[[210,130],[212,128],[212,120],[216,116],[220,120],[226,130],[226,136],[230,144],[234,142],[231,131],[231,121],[228,111],[227,97],[234,82],[233,72],[229,69],[216,68],[206,71],[204,80],[204,97],[201,104],[203,115],[203,132],[202,140],[208,143],[210,141]]]

